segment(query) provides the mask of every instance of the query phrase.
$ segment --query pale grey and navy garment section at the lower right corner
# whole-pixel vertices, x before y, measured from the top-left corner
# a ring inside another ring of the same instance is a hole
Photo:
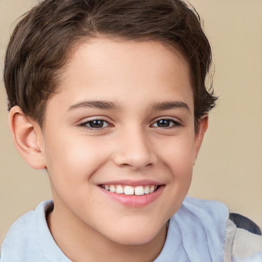
[[[224,249],[225,262],[262,261],[260,228],[247,217],[230,213]]]

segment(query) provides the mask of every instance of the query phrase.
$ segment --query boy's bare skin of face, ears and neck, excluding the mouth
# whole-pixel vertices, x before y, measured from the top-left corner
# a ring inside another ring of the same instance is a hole
[[[114,106],[100,108],[97,100]],[[156,41],[102,38],[75,48],[60,92],[47,102],[43,130],[12,108],[18,151],[30,166],[48,170],[54,198],[48,225],[65,255],[73,261],[157,258],[207,128],[204,117],[194,132],[193,111],[189,68],[179,52]],[[102,127],[92,128],[94,120]],[[142,207],[114,201],[99,186],[145,179],[163,190]]]

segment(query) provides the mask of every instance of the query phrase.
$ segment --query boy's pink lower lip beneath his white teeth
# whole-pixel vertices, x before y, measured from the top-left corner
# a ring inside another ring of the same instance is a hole
[[[98,186],[98,188],[102,191],[102,193],[104,193],[107,197],[111,198],[112,200],[117,201],[124,206],[135,207],[135,208],[144,207],[157,200],[160,194],[163,192],[164,187],[165,186],[161,185],[156,191],[149,194],[127,195],[127,194],[113,193]]]

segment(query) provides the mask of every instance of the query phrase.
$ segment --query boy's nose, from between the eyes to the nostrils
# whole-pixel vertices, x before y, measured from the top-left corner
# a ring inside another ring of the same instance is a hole
[[[113,161],[117,166],[140,170],[156,165],[158,158],[148,135],[143,130],[129,129],[119,134]]]

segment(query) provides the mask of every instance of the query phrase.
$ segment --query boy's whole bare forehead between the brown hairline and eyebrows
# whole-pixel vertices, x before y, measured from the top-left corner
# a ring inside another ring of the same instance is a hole
[[[60,96],[69,106],[87,99],[123,105],[140,100],[148,106],[188,97],[187,103],[193,104],[187,61],[160,41],[95,38],[83,42],[72,52],[59,90],[53,98]]]

